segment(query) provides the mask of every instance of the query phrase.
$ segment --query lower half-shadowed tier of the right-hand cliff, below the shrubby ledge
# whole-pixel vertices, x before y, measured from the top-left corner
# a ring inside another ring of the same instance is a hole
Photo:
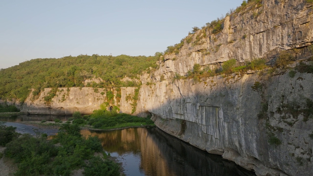
[[[262,87],[253,91],[256,81]],[[137,111],[151,112],[163,131],[257,175],[312,175],[313,118],[285,108],[305,110],[312,81],[306,73],[162,81],[141,87]]]

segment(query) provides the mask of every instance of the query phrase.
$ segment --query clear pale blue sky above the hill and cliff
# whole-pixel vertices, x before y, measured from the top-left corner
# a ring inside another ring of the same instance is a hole
[[[0,69],[79,54],[154,55],[242,0],[0,0]]]

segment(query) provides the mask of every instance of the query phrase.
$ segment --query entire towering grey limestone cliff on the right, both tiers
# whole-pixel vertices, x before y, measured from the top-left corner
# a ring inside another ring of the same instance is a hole
[[[291,49],[297,59],[311,57],[312,20],[306,1],[263,0],[260,8],[226,17],[219,34],[206,31],[195,44],[203,35],[197,31],[178,54],[165,55],[149,78],[141,77],[153,84],[141,86],[136,112],[151,112],[163,131],[257,175],[313,175],[311,73],[171,80],[196,63],[213,69],[230,59],[265,58],[274,64],[280,51]]]

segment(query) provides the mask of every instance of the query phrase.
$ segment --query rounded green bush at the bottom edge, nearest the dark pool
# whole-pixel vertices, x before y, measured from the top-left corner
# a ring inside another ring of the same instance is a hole
[[[85,176],[119,176],[120,166],[113,161],[93,157],[84,169]]]

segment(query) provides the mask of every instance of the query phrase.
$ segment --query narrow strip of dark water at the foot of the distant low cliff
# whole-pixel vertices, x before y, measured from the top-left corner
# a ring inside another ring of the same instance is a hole
[[[55,119],[59,119],[61,121],[67,121],[72,115],[39,115],[39,114],[31,114],[27,116],[26,114],[11,116],[11,117],[0,117],[0,121],[5,122],[38,122],[42,120],[46,121],[54,121]]]

